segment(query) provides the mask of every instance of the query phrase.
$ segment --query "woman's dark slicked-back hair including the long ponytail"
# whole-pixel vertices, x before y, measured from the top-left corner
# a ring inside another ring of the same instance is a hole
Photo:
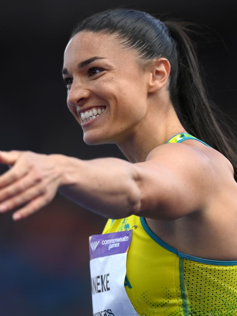
[[[137,51],[144,64],[155,58],[167,58],[171,65],[170,100],[181,123],[190,134],[226,156],[237,179],[235,137],[221,111],[207,98],[195,47],[187,34],[192,32],[187,28],[189,25],[187,22],[161,22],[143,11],[112,9],[80,21],[71,38],[84,30],[115,33],[124,46]],[[185,123],[179,112],[185,116]]]

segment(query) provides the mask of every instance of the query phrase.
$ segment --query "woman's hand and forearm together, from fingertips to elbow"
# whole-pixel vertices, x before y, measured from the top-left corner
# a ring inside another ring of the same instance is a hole
[[[57,191],[88,210],[112,218],[130,215],[140,203],[136,170],[128,161],[0,151],[0,163],[12,166],[0,176],[0,212],[23,205],[13,214],[14,220],[40,210]]]

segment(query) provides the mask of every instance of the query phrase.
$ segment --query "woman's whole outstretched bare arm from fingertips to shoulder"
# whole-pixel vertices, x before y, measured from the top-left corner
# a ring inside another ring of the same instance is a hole
[[[209,159],[185,144],[159,146],[135,164],[21,151],[0,153],[0,162],[12,165],[0,176],[0,210],[24,204],[14,219],[36,212],[59,191],[102,216],[171,220],[202,208],[215,185],[207,189],[213,175]]]

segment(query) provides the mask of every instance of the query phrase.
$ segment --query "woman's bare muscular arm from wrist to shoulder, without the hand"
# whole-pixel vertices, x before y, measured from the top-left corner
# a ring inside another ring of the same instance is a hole
[[[106,217],[173,220],[202,209],[210,194],[209,159],[185,144],[159,146],[136,164],[116,158],[58,159],[64,175],[59,191]]]

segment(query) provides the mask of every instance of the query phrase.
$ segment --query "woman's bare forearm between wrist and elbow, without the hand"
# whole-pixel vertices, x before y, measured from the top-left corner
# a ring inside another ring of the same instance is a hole
[[[77,204],[111,218],[126,217],[139,209],[139,176],[132,163],[118,158],[51,156],[61,173],[58,191]]]

